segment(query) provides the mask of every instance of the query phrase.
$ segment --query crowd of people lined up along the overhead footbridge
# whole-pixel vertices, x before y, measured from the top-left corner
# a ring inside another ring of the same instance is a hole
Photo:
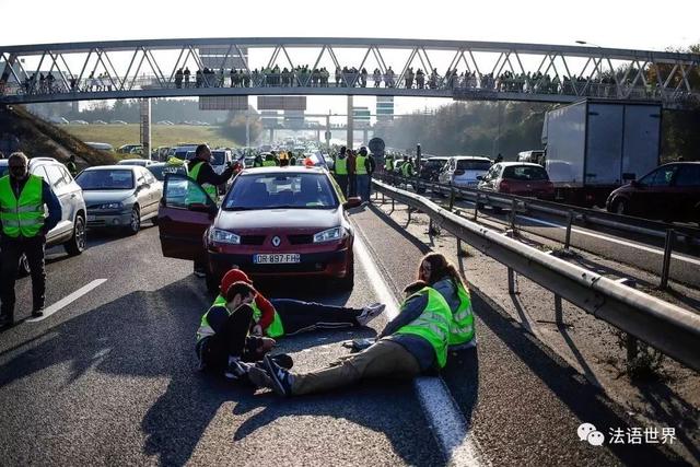
[[[523,93],[523,94],[559,94],[595,97],[635,97],[665,98],[681,101],[690,98],[690,93],[663,90],[662,85],[651,80],[630,77],[615,78],[603,75],[568,75],[542,72],[504,71],[498,74],[479,73],[476,70],[459,71],[457,68],[439,73],[438,69],[423,71],[408,67],[395,72],[389,66],[385,70],[375,68],[371,73],[366,68],[337,67],[331,74],[326,68],[308,65],[293,68],[266,67],[248,71],[247,69],[203,68],[190,72],[189,68],[179,68],[172,79],[142,75],[135,83],[128,83],[122,77],[114,77],[107,72],[90,73],[88,78],[49,71],[25,77],[22,83],[10,79],[5,72],[0,77],[0,94],[55,94],[110,92],[124,89],[201,89],[201,87],[368,87],[375,89],[417,89],[451,90],[454,94],[471,93]]]

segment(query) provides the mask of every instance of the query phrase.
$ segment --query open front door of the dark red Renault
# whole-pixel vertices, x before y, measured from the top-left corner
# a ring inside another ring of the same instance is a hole
[[[166,174],[158,213],[163,256],[201,258],[205,255],[202,235],[218,211],[217,203],[198,183],[184,175]]]

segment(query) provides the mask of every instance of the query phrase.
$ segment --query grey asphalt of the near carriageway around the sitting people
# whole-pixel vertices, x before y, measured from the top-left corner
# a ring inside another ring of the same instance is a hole
[[[399,299],[425,245],[371,207],[351,218],[372,258],[371,265],[358,260],[352,293],[317,281],[260,289],[268,296],[362,306],[377,301],[386,284]],[[435,437],[446,416],[429,413],[434,408],[409,382],[280,399],[197,372],[195,331],[211,299],[191,262],[163,258],[151,226],[133,237],[90,232],[89,243],[80,257],[49,252],[47,305],[94,288],[45,319],[0,332],[0,464],[438,466],[451,458]],[[18,317],[28,316],[22,297],[30,296],[24,278]],[[580,441],[583,422],[606,435],[632,422],[509,316],[476,294],[474,303],[478,348],[452,354],[442,372],[477,451],[469,463],[678,463],[656,445]],[[291,353],[295,370],[319,367],[347,353],[340,341],[372,336],[385,323],[381,316],[374,329],[281,339],[277,351]]]

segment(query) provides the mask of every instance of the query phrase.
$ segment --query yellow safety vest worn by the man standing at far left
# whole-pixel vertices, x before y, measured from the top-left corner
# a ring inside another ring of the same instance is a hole
[[[0,178],[0,220],[2,232],[9,237],[36,236],[44,226],[44,196],[42,177],[30,175],[16,199],[10,176]]]

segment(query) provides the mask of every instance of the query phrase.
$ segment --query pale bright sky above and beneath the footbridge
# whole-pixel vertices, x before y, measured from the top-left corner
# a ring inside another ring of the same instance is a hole
[[[700,44],[700,0],[0,0],[0,46],[178,37],[389,37],[664,50]],[[397,100],[397,112],[435,100]],[[311,112],[345,110],[310,98]],[[373,100],[355,98],[373,106]]]

